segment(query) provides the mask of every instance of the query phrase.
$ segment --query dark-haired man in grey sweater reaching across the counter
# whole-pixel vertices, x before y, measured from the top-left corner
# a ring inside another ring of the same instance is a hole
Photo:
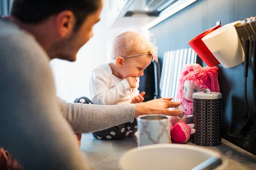
[[[102,0],[14,0],[9,20],[0,18],[0,146],[24,170],[91,169],[73,131],[102,130],[142,114],[182,114],[166,109],[180,105],[171,98],[99,106],[55,96],[49,60],[75,61],[102,7]]]

